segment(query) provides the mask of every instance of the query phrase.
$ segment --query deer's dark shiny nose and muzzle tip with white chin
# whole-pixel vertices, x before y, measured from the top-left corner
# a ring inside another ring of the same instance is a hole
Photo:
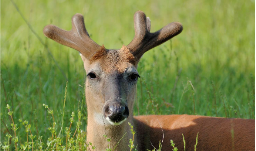
[[[104,116],[113,125],[119,125],[129,116],[129,109],[119,102],[111,102],[104,106]]]

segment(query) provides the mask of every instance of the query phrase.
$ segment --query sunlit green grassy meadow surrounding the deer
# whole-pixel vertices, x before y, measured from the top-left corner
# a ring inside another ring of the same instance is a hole
[[[152,32],[170,22],[180,22],[184,29],[141,58],[135,115],[255,119],[254,0],[1,0],[1,147],[7,134],[14,136],[7,104],[21,143],[27,142],[27,133],[19,119],[31,124],[35,139],[42,136],[45,144],[52,136],[52,114],[57,134],[62,125],[71,125],[72,112],[86,131],[81,57],[46,38],[44,26],[70,30],[71,17],[81,13],[94,41],[119,49],[134,37],[137,10],[150,17]],[[70,132],[76,128],[72,124]],[[60,135],[65,144],[64,130]],[[15,150],[13,142],[10,150]]]

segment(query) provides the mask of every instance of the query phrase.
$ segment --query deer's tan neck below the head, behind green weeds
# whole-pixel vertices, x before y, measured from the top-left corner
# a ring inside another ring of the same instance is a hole
[[[88,111],[88,125],[87,125],[87,143],[92,143],[93,146],[96,146],[96,151],[106,150],[106,148],[114,149],[119,151],[128,151],[130,150],[128,144],[130,138],[133,138],[131,134],[131,125],[134,125],[133,112],[129,113],[128,118],[120,125],[111,125],[104,117],[101,112],[94,110],[91,108],[91,103],[98,101],[95,100],[90,93],[86,93],[86,103],[87,103],[87,111]],[[110,142],[107,141],[107,138],[110,138]],[[134,142],[136,144],[136,138]],[[91,148],[91,147],[90,147]]]

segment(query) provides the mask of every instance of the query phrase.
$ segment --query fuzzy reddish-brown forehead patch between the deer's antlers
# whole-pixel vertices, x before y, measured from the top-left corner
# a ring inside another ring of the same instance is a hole
[[[90,63],[98,61],[101,68],[108,73],[113,71],[123,73],[130,64],[136,63],[135,57],[126,46],[122,46],[120,50],[106,50],[101,46],[89,61]]]

